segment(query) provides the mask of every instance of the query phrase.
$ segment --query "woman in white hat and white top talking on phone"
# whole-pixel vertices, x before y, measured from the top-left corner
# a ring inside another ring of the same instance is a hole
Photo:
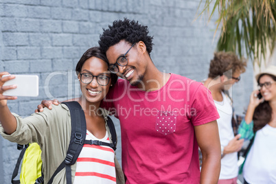
[[[276,183],[276,66],[267,67],[255,78],[259,90],[251,93],[239,128],[242,138],[251,140],[241,170],[246,184]]]

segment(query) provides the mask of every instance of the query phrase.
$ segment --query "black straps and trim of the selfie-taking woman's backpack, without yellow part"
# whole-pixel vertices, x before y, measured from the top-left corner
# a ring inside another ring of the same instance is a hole
[[[71,115],[71,140],[69,143],[69,148],[67,150],[67,156],[65,157],[65,160],[60,163],[54,174],[51,176],[51,179],[49,180],[49,184],[51,184],[54,180],[54,177],[60,170],[65,168],[66,170],[66,181],[67,184],[71,184],[71,165],[76,163],[76,160],[78,159],[78,156],[80,154],[80,151],[82,150],[82,147],[85,144],[91,144],[91,145],[98,145],[98,146],[109,146],[113,148],[113,150],[116,150],[117,145],[117,135],[115,126],[113,124],[113,121],[110,117],[108,118],[107,124],[108,128],[111,132],[111,140],[112,143],[105,143],[98,140],[85,140],[87,136],[87,122],[85,121],[84,111],[82,110],[82,107],[78,102],[62,102],[62,104],[65,104],[68,106],[70,115]],[[16,166],[14,168],[14,172],[12,174],[12,183],[18,184],[20,183],[19,180],[14,180],[14,178],[17,176],[19,172],[19,165],[21,163],[21,160],[23,158],[23,155],[25,153],[25,150],[27,149],[28,145],[24,146],[18,145],[17,149],[22,150],[19,159],[17,160]],[[41,167],[42,168],[42,167]],[[42,176],[36,179],[36,183],[44,183],[43,179],[43,172],[41,171]]]

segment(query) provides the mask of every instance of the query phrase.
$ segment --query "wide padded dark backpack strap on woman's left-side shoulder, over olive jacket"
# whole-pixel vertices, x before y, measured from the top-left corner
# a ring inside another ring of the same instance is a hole
[[[67,156],[65,160],[60,163],[51,179],[48,183],[52,183],[54,176],[60,172],[63,168],[66,170],[66,181],[67,184],[71,184],[71,165],[76,163],[82,146],[87,136],[87,123],[84,116],[84,111],[82,106],[78,102],[62,102],[68,106],[71,115],[71,140],[69,143],[69,148],[67,150]]]

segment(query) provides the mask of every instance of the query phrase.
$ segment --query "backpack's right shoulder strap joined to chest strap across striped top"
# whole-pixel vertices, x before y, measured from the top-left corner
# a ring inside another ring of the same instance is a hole
[[[116,145],[117,145],[117,134],[115,130],[115,126],[113,124],[113,121],[110,117],[107,116],[107,126],[111,132],[111,141],[112,143],[106,143],[98,140],[84,140],[85,144],[90,144],[90,145],[97,145],[97,146],[109,146],[113,148],[113,150],[116,150]]]

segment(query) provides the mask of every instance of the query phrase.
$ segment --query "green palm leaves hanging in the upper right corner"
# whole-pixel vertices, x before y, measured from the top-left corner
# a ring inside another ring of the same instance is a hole
[[[217,30],[221,26],[218,51],[233,51],[246,55],[261,65],[272,54],[276,41],[275,0],[206,0],[203,12],[218,9]],[[200,1],[200,4],[202,0]]]

